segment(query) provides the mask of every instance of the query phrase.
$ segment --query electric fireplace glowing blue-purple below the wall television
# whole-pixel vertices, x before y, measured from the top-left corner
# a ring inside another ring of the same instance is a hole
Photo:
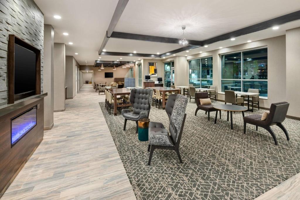
[[[11,119],[11,147],[37,125],[37,106]]]

